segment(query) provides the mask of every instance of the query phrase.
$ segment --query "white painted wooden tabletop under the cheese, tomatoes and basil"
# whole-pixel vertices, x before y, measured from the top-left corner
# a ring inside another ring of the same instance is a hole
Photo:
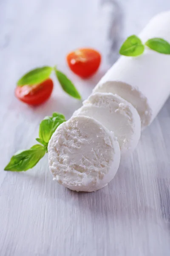
[[[14,87],[23,73],[57,64],[86,98],[121,41],[167,9],[169,0],[0,1],[0,256],[170,255],[170,99],[113,181],[95,193],[55,183],[47,156],[27,172],[3,171],[14,152],[34,145],[45,115],[69,118],[81,105],[57,82],[46,104],[22,104]],[[103,55],[86,81],[65,64],[66,53],[83,46]]]

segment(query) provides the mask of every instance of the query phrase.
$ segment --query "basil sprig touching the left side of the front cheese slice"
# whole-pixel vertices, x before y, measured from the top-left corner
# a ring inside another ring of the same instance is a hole
[[[48,142],[57,127],[65,122],[65,116],[60,113],[53,113],[46,116],[40,123],[39,136],[36,140],[41,143],[32,146],[27,150],[17,151],[5,167],[5,171],[22,172],[33,168],[47,152]]]

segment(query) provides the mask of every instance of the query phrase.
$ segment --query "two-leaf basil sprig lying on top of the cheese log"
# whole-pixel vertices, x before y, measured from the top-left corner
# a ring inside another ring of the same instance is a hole
[[[125,40],[120,47],[119,53],[131,57],[139,56],[144,52],[145,46],[162,54],[170,54],[170,44],[163,38],[150,38],[143,44],[136,35],[131,35]]]

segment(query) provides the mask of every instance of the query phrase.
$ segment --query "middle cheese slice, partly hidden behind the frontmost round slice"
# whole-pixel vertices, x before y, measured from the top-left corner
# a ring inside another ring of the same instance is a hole
[[[119,142],[121,156],[130,154],[139,142],[141,120],[136,109],[112,93],[94,93],[83,102],[73,116],[90,116],[113,131]]]

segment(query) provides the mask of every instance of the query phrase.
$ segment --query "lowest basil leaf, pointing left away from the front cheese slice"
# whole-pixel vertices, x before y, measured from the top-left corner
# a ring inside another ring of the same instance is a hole
[[[34,145],[28,150],[18,151],[11,157],[5,167],[5,171],[22,172],[34,167],[45,155],[45,148],[42,145]]]

